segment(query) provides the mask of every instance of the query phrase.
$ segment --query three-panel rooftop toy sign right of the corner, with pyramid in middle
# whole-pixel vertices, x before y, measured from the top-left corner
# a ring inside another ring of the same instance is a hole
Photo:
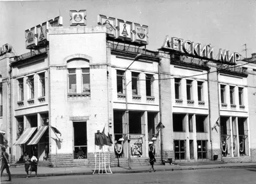
[[[124,21],[122,19],[98,15],[98,24],[106,25],[109,38],[116,41],[129,41],[138,45],[148,45],[148,26]]]

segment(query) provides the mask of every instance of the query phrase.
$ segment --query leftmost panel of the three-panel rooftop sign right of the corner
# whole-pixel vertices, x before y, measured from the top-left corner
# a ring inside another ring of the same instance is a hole
[[[106,26],[106,32],[109,37],[116,37],[116,18],[106,17],[105,15],[98,15],[98,24]]]

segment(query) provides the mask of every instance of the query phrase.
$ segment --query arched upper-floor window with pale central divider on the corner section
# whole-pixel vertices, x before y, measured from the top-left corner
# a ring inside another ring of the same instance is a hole
[[[67,61],[68,93],[90,92],[90,65],[89,60],[74,58]]]

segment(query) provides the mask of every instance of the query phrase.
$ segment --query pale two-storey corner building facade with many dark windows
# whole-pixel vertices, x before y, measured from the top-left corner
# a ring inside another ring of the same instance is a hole
[[[49,166],[255,161],[255,55],[236,65],[109,38],[108,26],[49,27],[49,43],[0,56],[1,134],[17,162]],[[9,50],[10,51],[10,50]],[[210,52],[211,53],[211,52]],[[102,148],[95,137],[113,142]],[[140,161],[140,162],[138,162]]]

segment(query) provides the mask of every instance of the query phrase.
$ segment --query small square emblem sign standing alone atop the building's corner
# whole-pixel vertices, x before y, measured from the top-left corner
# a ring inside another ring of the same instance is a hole
[[[86,25],[86,10],[70,10],[70,26]]]

